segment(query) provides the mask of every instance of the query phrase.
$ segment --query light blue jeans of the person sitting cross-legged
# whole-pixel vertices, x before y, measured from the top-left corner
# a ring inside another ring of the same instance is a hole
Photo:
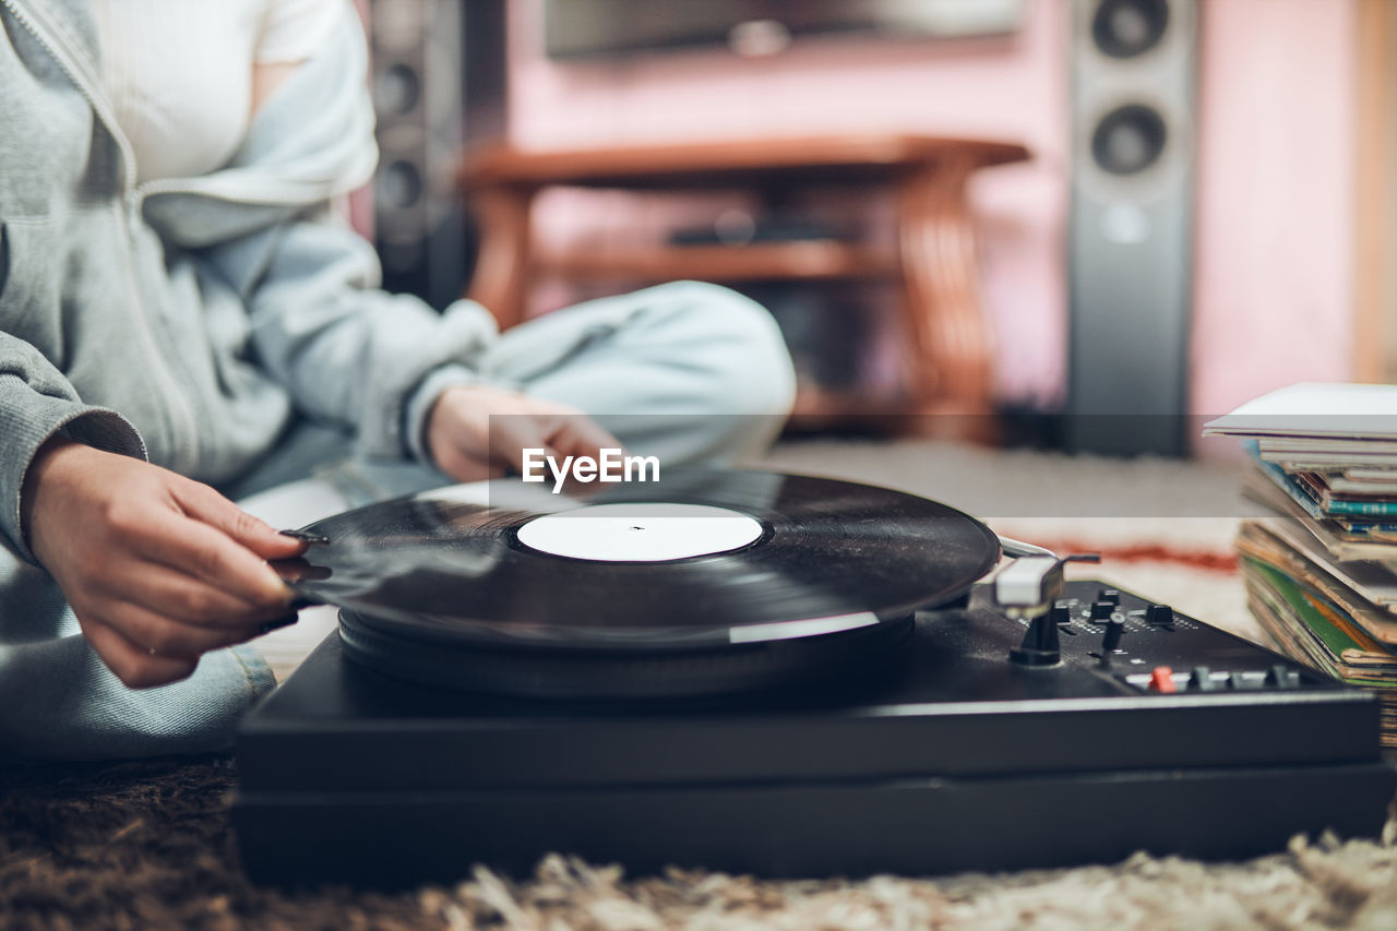
[[[472,361],[475,377],[592,414],[629,450],[666,466],[760,452],[791,408],[795,376],[774,322],[732,291],[676,282],[525,323]],[[274,502],[298,527],[447,479],[415,463],[346,459],[351,438],[302,424],[222,491]],[[6,604],[43,605],[13,616]],[[173,685],[131,691],[82,637],[63,593],[0,548],[0,755],[106,759],[228,748],[237,717],[275,686],[253,644],[201,657]]]

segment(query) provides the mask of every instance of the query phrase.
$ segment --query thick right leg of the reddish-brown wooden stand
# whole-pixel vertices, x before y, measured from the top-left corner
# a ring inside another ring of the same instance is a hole
[[[992,410],[993,348],[965,190],[974,168],[960,159],[926,165],[898,192],[908,384],[921,412]],[[988,417],[982,426],[990,428]]]

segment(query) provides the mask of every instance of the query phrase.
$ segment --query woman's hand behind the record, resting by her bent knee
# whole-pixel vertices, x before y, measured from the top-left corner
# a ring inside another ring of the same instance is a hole
[[[620,449],[581,411],[481,384],[441,391],[427,414],[426,445],[437,468],[458,482],[518,472],[525,449],[543,449],[557,460]]]

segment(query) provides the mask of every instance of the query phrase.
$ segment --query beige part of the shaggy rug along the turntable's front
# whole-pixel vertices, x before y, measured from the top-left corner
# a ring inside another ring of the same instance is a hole
[[[1393,825],[1397,829],[1397,823]],[[1137,854],[1109,867],[967,874],[947,879],[756,882],[675,871],[624,882],[620,871],[560,857],[534,882],[478,869],[454,890],[425,890],[447,927],[529,931],[1201,931],[1397,928],[1397,849],[1291,842],[1282,854],[1204,867]]]

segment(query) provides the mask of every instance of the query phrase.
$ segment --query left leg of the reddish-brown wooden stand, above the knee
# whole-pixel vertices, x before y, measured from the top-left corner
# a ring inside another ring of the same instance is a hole
[[[493,313],[500,330],[524,319],[532,267],[532,189],[509,186],[481,187],[471,197],[479,219],[481,249],[467,296]]]

